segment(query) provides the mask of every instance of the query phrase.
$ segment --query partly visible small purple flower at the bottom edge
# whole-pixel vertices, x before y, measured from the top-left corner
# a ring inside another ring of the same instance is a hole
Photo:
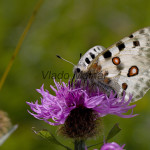
[[[120,146],[115,142],[104,144],[100,150],[123,150],[125,144]]]

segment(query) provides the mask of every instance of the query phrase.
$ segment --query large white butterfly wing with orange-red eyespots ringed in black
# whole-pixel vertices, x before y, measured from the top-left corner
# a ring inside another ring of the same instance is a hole
[[[102,72],[107,71],[107,77],[119,84],[120,95],[125,90],[126,95],[133,95],[132,101],[142,98],[150,88],[150,27],[107,48],[97,60]]]

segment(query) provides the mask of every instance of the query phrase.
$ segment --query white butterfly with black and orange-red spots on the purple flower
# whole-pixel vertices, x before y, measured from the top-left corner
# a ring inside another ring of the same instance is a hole
[[[73,70],[75,78],[89,81],[98,87],[132,102],[141,99],[150,88],[150,27],[140,29],[108,48],[95,46],[89,49]]]

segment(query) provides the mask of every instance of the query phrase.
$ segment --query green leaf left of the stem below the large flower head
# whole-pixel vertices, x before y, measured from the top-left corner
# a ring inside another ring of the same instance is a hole
[[[34,132],[35,134],[37,134],[38,136],[40,136],[40,137],[46,139],[48,142],[54,143],[54,144],[56,144],[56,145],[60,145],[60,146],[64,147],[64,148],[67,149],[67,150],[71,150],[71,148],[69,148],[69,147],[63,145],[62,143],[60,143],[60,142],[55,138],[55,136],[54,136],[52,133],[50,133],[48,130],[46,130],[46,129],[37,130],[35,127],[33,127],[32,130],[33,130],[33,132]]]

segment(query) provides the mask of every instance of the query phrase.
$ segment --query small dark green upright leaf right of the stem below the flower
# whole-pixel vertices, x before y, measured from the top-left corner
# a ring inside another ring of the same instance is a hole
[[[121,131],[121,128],[119,127],[119,124],[116,123],[113,128],[109,131],[107,138],[106,138],[106,143],[108,140],[116,136],[119,132]]]

